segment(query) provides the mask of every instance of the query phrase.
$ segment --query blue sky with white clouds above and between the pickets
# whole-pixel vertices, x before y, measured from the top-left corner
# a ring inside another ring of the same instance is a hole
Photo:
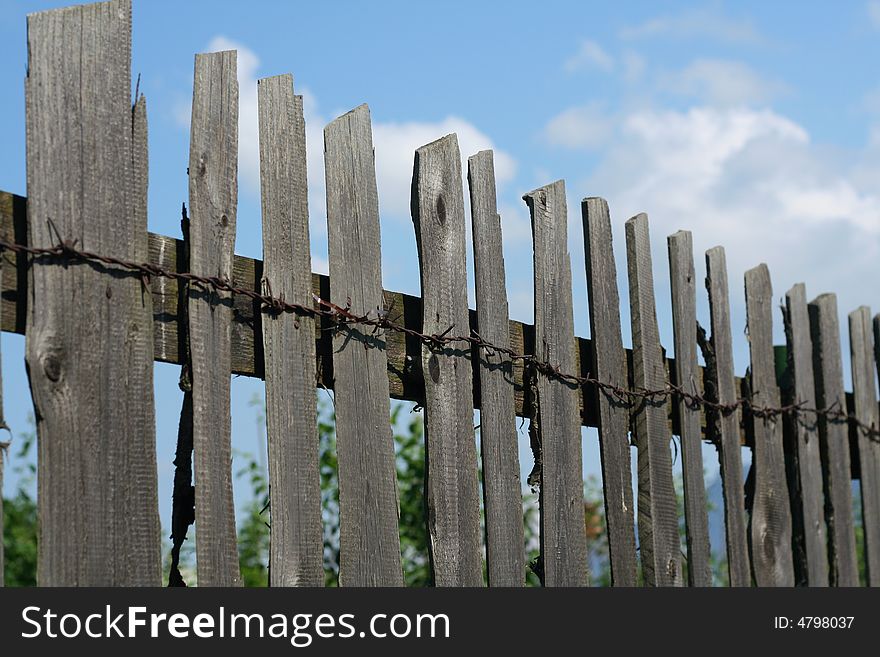
[[[4,0],[0,7],[0,188],[7,191],[26,192],[25,15],[63,4]],[[515,319],[532,317],[531,234],[521,196],[557,178],[566,180],[569,195],[579,335],[589,335],[585,196],[610,203],[622,299],[623,222],[648,213],[660,331],[670,351],[665,238],[679,228],[694,232],[701,278],[703,252],[727,248],[738,373],[748,363],[742,276],[759,262],[768,263],[777,297],[802,281],[809,298],[837,292],[844,335],[848,311],[880,308],[880,2],[135,0],[133,47],[133,76],[141,75],[148,100],[155,232],[178,235],[187,197],[193,55],[237,48],[238,253],[261,253],[255,81],[291,72],[306,99],[318,271],[327,270],[321,131],[367,102],[388,289],[419,293],[409,217],[413,151],[454,131],[463,157],[481,148],[496,152]],[[701,288],[698,298],[706,325]],[[779,344],[781,314],[775,319]],[[629,344],[626,308],[622,321]],[[4,334],[2,349],[7,419],[22,430],[30,408],[23,339]],[[157,366],[163,519],[179,412],[176,377],[176,367]],[[240,449],[258,444],[248,402],[261,391],[259,382],[234,380]],[[585,469],[597,472],[594,433],[586,437]]]

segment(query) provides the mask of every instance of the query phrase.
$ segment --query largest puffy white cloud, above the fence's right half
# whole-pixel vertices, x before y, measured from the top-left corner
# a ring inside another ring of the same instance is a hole
[[[813,144],[770,110],[635,111],[620,134],[583,189],[608,198],[616,230],[649,213],[658,284],[665,236],[687,228],[698,272],[706,248],[727,250],[734,326],[744,325],[742,274],[760,262],[777,298],[804,281],[811,298],[837,292],[841,311],[880,301],[853,285],[880,276],[880,197],[866,162]]]

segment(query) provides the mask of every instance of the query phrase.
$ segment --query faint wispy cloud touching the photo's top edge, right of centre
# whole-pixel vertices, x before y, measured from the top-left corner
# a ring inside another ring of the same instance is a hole
[[[761,40],[750,21],[725,16],[714,7],[694,9],[675,16],[659,16],[620,31],[620,38],[626,40],[650,37],[699,38],[726,43],[755,43]]]

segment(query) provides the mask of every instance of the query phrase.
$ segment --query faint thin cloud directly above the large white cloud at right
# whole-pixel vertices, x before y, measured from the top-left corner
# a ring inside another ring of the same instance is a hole
[[[661,91],[690,96],[713,105],[766,103],[785,91],[742,62],[696,59],[677,73],[658,79]]]

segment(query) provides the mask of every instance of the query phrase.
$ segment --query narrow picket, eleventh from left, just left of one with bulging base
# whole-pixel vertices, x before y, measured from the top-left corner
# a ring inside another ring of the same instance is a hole
[[[714,360],[714,367],[709,368],[707,384],[714,386],[718,403],[734,404],[739,398],[739,384],[733,375],[733,339],[730,332],[730,299],[724,247],[716,246],[706,251],[706,290],[709,293],[712,324],[710,344],[711,357]],[[730,585],[751,586],[739,416],[739,410],[720,413],[717,437]]]

